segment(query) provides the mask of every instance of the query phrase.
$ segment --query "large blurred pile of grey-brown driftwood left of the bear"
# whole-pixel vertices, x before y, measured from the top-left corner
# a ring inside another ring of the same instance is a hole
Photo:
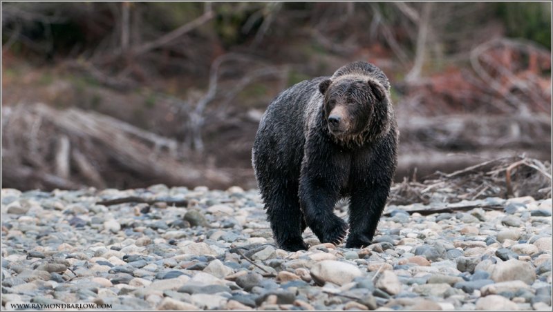
[[[5,107],[2,127],[5,186],[113,187],[118,185],[111,179],[118,174],[188,186],[230,182],[223,171],[179,159],[176,140],[100,113],[45,104]]]

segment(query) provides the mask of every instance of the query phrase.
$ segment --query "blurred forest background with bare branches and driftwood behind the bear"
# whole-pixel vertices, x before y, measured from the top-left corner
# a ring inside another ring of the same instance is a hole
[[[256,187],[281,91],[386,72],[396,181],[551,159],[551,3],[2,3],[2,187]]]

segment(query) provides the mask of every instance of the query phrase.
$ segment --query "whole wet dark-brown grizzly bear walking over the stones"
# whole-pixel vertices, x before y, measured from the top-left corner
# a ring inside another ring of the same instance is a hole
[[[308,248],[306,226],[321,243],[341,243],[349,228],[346,248],[371,244],[397,166],[398,135],[388,78],[365,61],[281,92],[252,149],[278,246]],[[344,197],[349,224],[332,212]]]

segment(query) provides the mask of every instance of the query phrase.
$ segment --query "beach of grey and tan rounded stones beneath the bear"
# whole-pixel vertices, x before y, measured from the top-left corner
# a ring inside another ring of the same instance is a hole
[[[320,244],[308,229],[309,250],[289,253],[274,246],[257,190],[1,196],[3,309],[552,309],[552,199],[388,205],[371,246]],[[159,202],[98,204],[124,197]],[[426,208],[453,212],[413,213]]]

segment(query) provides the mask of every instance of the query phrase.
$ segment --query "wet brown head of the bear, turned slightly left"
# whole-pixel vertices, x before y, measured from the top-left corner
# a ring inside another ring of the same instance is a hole
[[[364,141],[387,132],[390,104],[379,82],[362,76],[326,79],[319,91],[324,95],[324,121],[336,139]]]

